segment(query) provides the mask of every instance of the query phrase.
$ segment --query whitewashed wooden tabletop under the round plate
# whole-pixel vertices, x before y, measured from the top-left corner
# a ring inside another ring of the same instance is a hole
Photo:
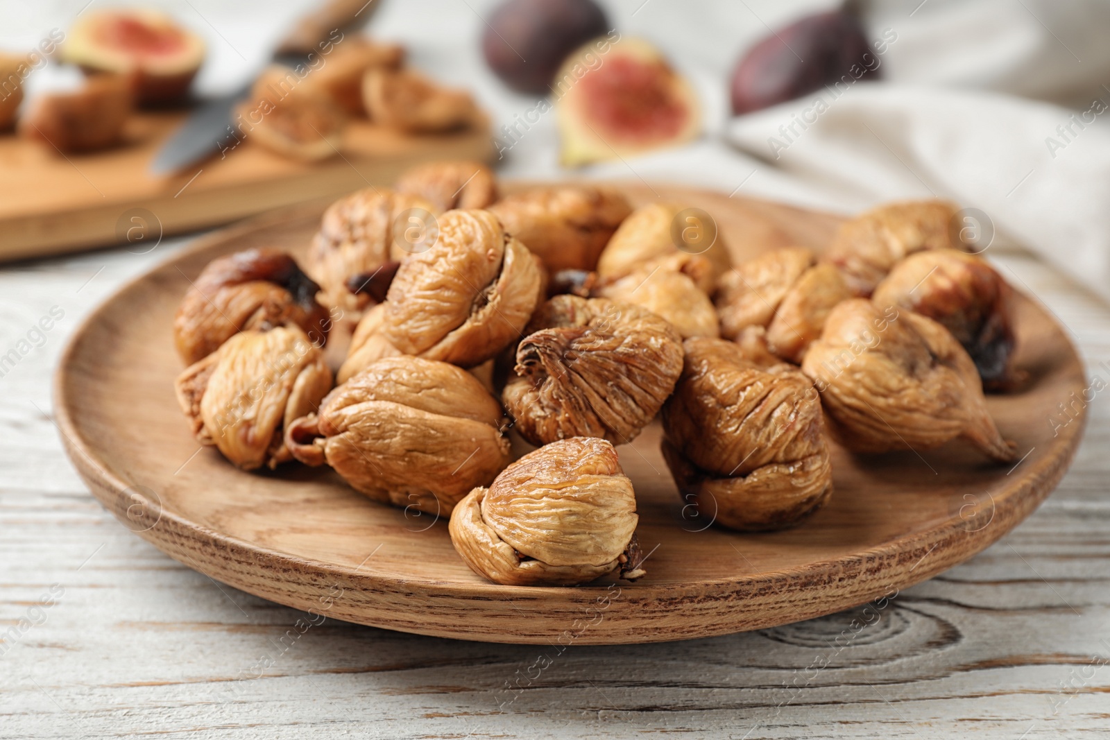
[[[532,680],[544,648],[334,620],[299,633],[305,615],[170,559],[85,490],[52,420],[51,374],[82,317],[175,249],[0,268],[0,355],[30,346],[0,377],[0,737],[1107,737],[1102,394],[1073,468],[1036,514],[858,633],[846,611],[714,639],[572,647]],[[1025,255],[999,263],[1110,382],[1110,362],[1099,365],[1110,308]],[[54,306],[61,321],[20,345]],[[815,660],[828,666],[807,670]],[[517,676],[526,689],[503,691]]]

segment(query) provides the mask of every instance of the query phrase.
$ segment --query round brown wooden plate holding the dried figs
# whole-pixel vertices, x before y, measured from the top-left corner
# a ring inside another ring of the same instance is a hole
[[[636,202],[708,211],[739,259],[788,243],[819,247],[838,222],[717,193],[620,186]],[[1082,366],[1060,326],[1022,297],[1019,363],[1030,382],[988,401],[1026,455],[1012,469],[959,444],[868,459],[836,449],[829,505],[795,529],[741,535],[684,517],[653,425],[619,448],[652,551],[646,578],[488,584],[455,554],[446,521],[372,503],[326,470],[242,473],[188,432],[172,389],[182,368],[171,321],[189,281],[234,250],[302,253],[319,217],[305,207],[255,219],[125,286],[77,332],[56,387],[69,455],[109,510],[185,565],[291,607],[495,642],[652,642],[781,625],[890,595],[982,550],[1048,496],[1081,436],[1082,412],[1064,424],[1058,404],[1083,392]]]

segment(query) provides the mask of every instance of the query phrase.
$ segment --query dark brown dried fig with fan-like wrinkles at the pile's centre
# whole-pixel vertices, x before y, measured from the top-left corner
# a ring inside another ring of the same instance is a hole
[[[534,445],[568,437],[632,442],[683,369],[678,332],[626,303],[556,295],[526,332],[502,401]]]

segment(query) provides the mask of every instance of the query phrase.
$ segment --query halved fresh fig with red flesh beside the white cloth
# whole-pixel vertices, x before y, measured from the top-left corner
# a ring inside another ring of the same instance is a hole
[[[593,43],[571,54],[553,83],[565,165],[677,146],[698,135],[689,83],[659,51],[623,39],[599,57]]]

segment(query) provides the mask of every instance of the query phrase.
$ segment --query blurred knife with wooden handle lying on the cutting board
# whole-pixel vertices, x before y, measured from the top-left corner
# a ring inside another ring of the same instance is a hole
[[[271,61],[286,67],[304,63],[310,53],[317,52],[317,44],[329,33],[357,31],[380,4],[381,0],[330,0],[297,21],[278,44]],[[230,94],[202,102],[154,154],[150,173],[154,176],[172,174],[219,152],[229,135],[232,111],[250,91],[251,83],[248,83]]]

